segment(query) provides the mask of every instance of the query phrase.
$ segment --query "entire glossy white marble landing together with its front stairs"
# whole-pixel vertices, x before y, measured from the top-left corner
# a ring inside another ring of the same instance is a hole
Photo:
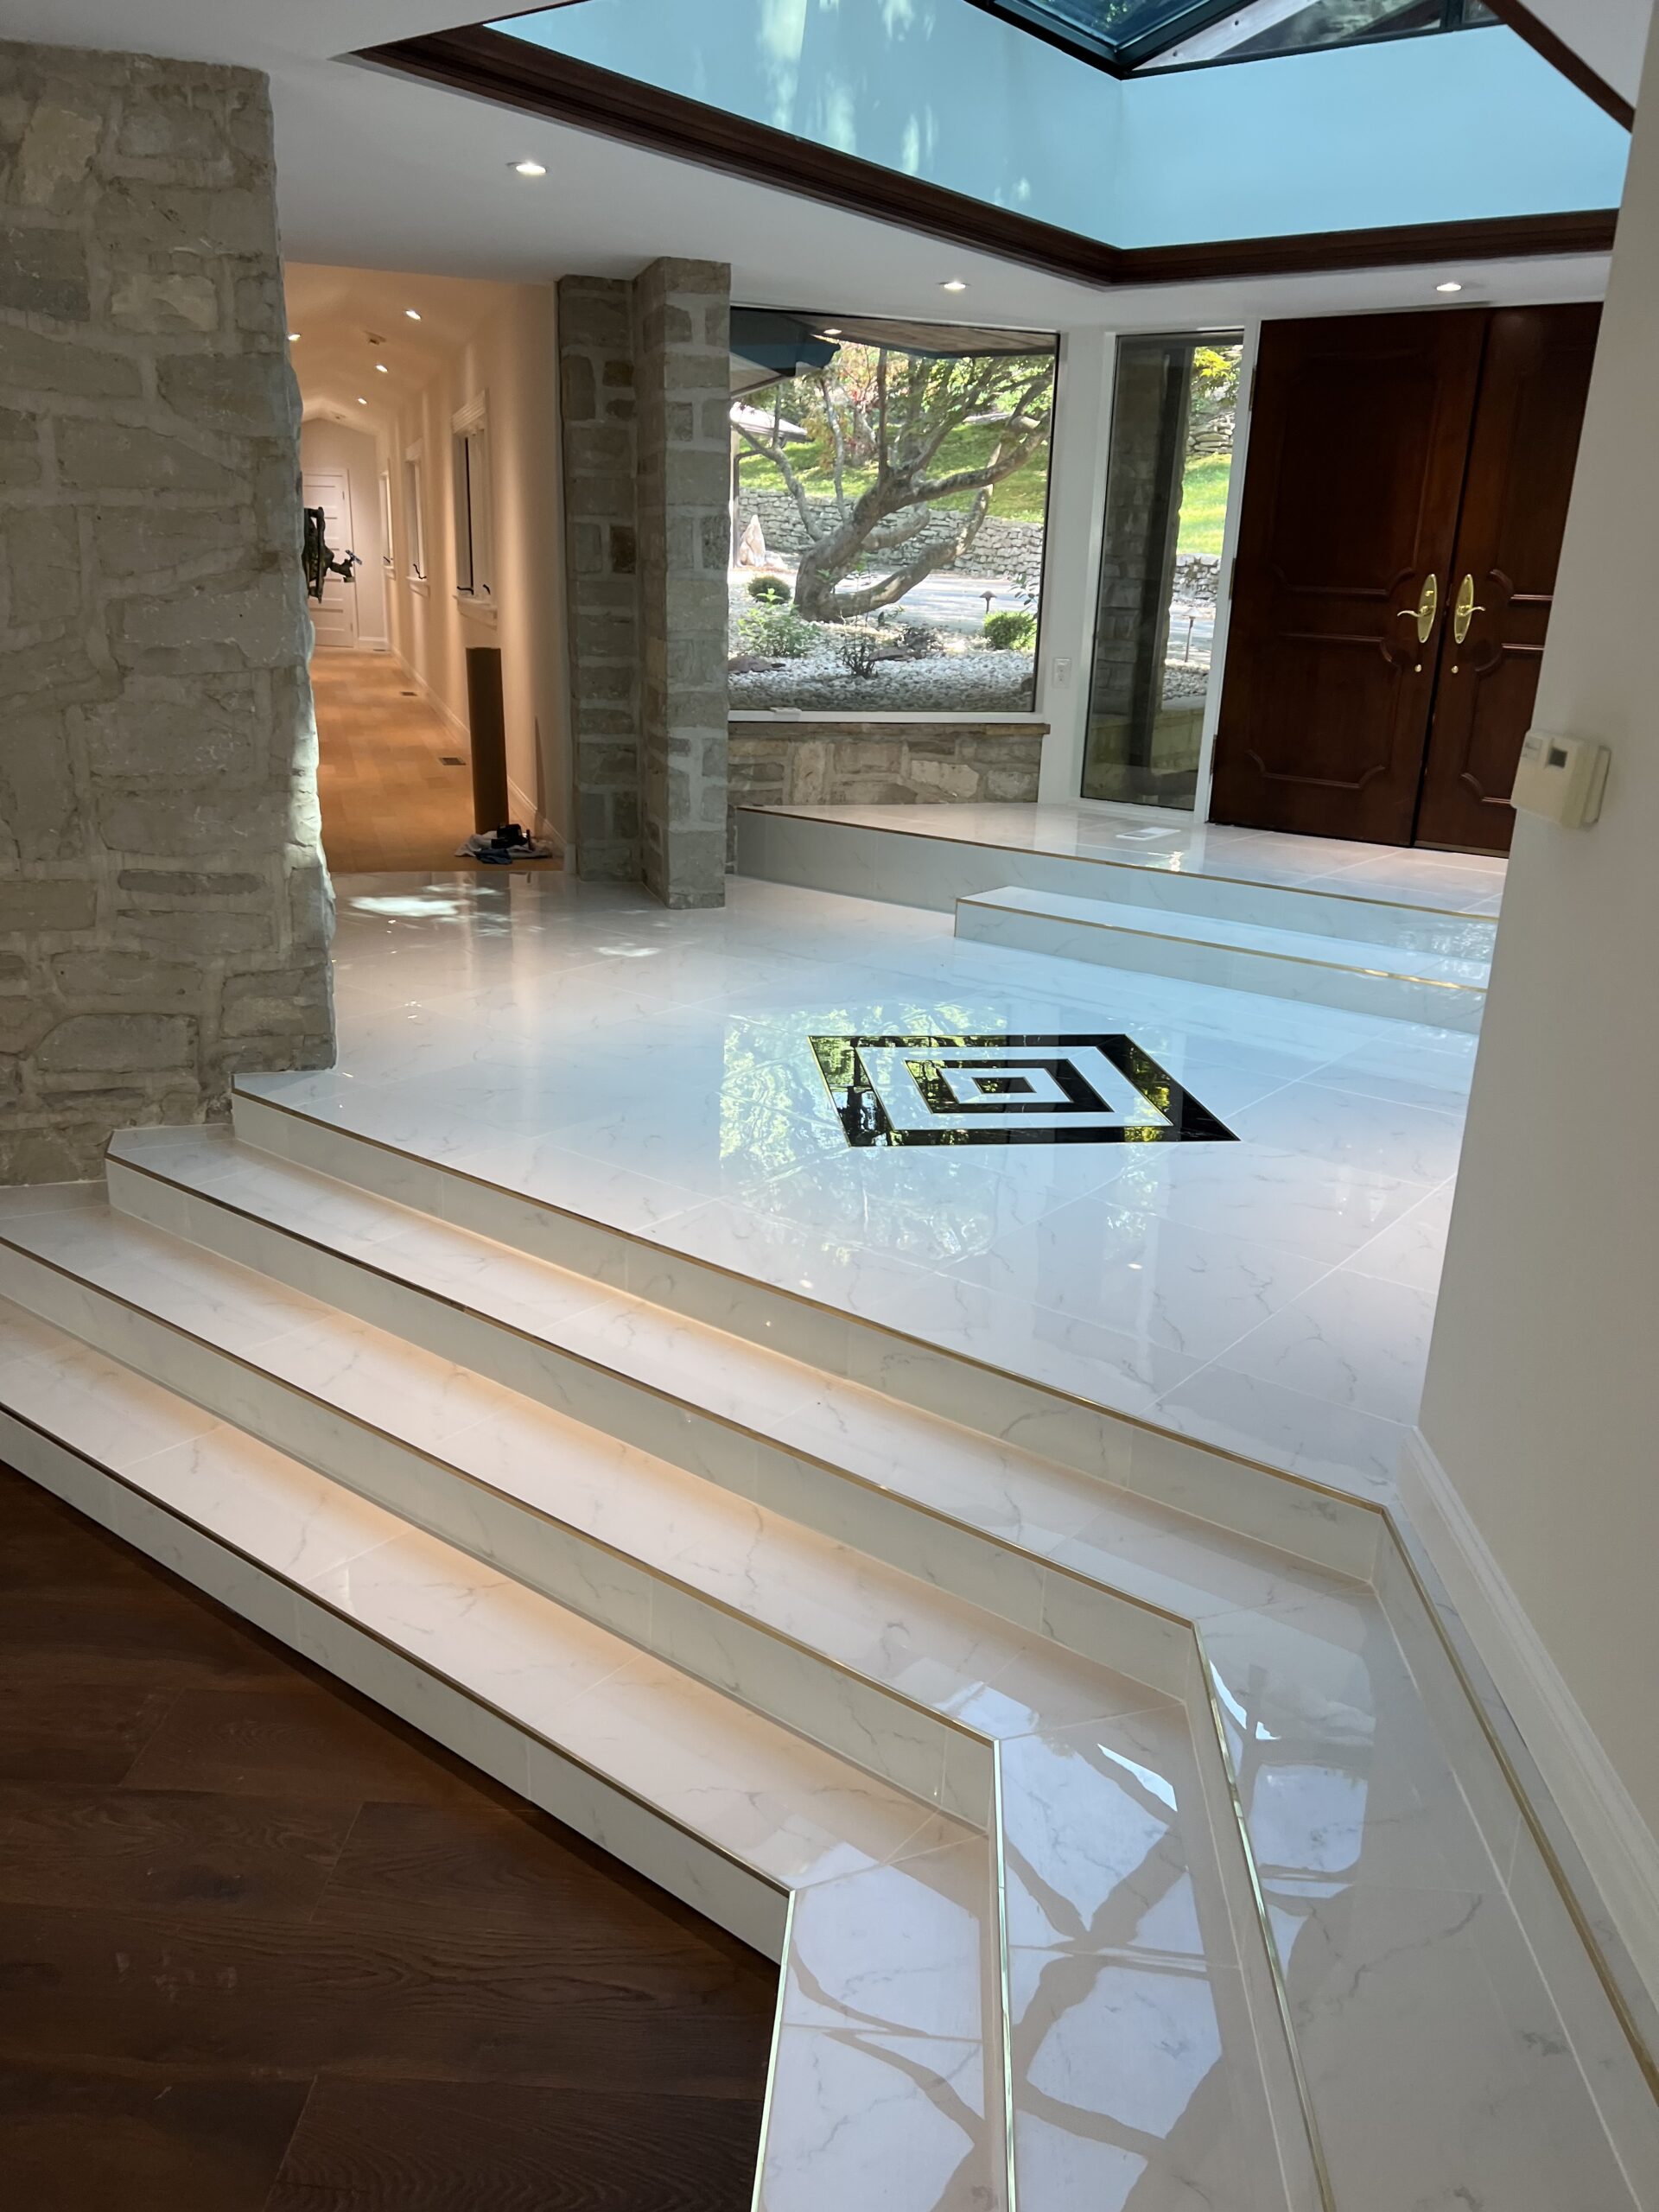
[[[336,1071],[0,1203],[0,1447],[779,1958],[761,2212],[1659,2201],[1376,1509],[1469,1037],[743,880],[341,907]],[[814,1035],[1152,1135],[852,1144]]]

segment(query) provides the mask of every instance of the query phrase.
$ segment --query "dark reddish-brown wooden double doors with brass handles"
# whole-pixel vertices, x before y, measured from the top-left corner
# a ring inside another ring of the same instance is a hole
[[[1212,821],[1509,849],[1597,321],[1263,327]]]

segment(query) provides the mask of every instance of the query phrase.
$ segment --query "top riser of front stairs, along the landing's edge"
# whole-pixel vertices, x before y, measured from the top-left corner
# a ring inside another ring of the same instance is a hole
[[[1276,1544],[1314,1566],[1360,1579],[1371,1571],[1378,1517],[1336,1493],[1082,1405],[1020,1376],[960,1360],[874,1323],[847,1321],[763,1283],[535,1206],[265,1099],[237,1093],[232,1119],[243,1144],[294,1166],[356,1183],[453,1228],[493,1237],[531,1259],[591,1274],[608,1287],[628,1290],[748,1343],[805,1358],[834,1376],[867,1383],[900,1405],[1018,1444],[1237,1535]]]

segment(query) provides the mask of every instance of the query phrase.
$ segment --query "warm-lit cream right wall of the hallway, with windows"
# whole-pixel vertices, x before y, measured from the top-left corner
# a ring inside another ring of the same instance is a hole
[[[453,416],[489,405],[495,622],[456,599]],[[467,728],[467,646],[500,646],[507,774],[524,827],[564,843],[568,730],[564,679],[557,341],[551,285],[513,285],[440,372],[392,414],[392,648],[458,732]],[[405,453],[425,456],[425,588],[409,573]]]

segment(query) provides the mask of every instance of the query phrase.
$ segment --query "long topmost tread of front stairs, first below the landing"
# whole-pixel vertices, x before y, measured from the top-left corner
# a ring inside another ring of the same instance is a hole
[[[1192,1619],[1263,1604],[1292,1575],[1301,1586],[1343,1584],[869,1385],[259,1152],[230,1130],[126,1130],[111,1157]]]

